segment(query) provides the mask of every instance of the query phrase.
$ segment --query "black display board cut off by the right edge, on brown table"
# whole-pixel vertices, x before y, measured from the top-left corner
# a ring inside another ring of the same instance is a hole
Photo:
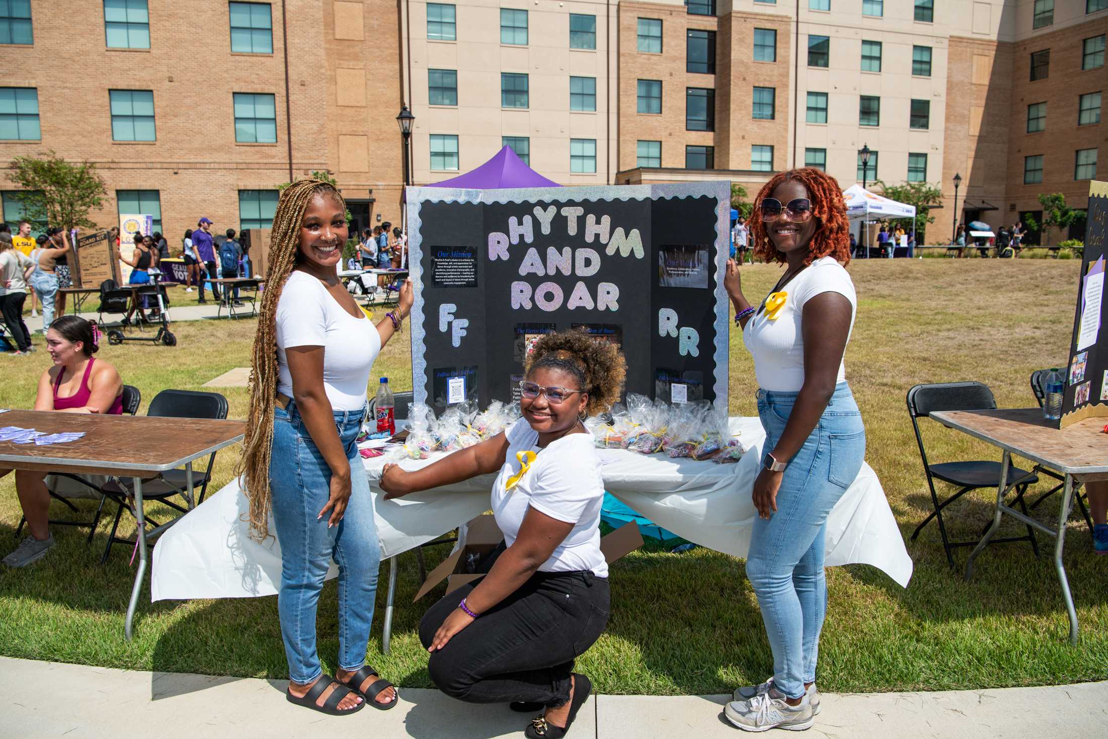
[[[1108,310],[1101,299],[1106,279],[1106,232],[1108,183],[1091,182],[1069,362],[1063,368],[1066,384],[1058,428],[1086,418],[1108,417],[1108,327],[1105,320]]]

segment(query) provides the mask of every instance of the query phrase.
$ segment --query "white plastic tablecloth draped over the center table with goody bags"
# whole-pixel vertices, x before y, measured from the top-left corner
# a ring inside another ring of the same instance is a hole
[[[765,433],[757,418],[732,418],[731,431],[750,449],[735,464],[599,450],[605,486],[678,536],[745,557],[757,515],[751,491]],[[416,469],[441,456],[401,466]],[[429,542],[489,510],[494,475],[386,501],[373,484],[380,478],[382,459],[363,462],[382,558]],[[246,513],[246,496],[235,480],[162,534],[154,547],[152,599],[275,595],[280,583],[280,546],[275,537],[261,544],[250,540]],[[271,523],[269,531],[275,531]],[[903,587],[912,577],[912,560],[869,464],[862,465],[828,516],[827,564],[851,563],[873,565]],[[332,563],[328,576],[336,574]]]

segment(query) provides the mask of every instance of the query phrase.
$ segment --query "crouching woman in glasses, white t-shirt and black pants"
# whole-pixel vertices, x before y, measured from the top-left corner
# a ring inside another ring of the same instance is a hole
[[[420,640],[439,689],[474,704],[545,707],[531,739],[565,736],[592,690],[573,663],[608,622],[608,567],[601,553],[604,482],[582,419],[607,410],[626,363],[614,345],[582,331],[535,345],[520,383],[523,418],[475,447],[422,470],[384,466],[387,499],[500,470],[492,511],[504,532],[489,574],[423,616]]]

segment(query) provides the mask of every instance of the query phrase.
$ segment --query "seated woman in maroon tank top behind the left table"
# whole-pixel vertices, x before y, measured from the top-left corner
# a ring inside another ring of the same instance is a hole
[[[63,413],[123,413],[123,380],[115,368],[92,358],[100,348],[95,324],[78,316],[62,316],[47,331],[47,351],[54,360],[39,378],[37,411]],[[0,478],[11,470],[0,472]],[[45,556],[54,545],[50,533],[50,493],[45,472],[16,471],[16,493],[31,533],[3,558],[9,567],[24,567]]]

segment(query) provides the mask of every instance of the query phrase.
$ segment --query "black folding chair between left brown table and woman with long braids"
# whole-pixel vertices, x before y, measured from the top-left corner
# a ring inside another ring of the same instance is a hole
[[[222,420],[227,418],[227,399],[217,392],[163,390],[154,397],[154,400],[151,401],[146,415],[157,418]],[[208,483],[212,481],[212,469],[215,465],[215,455],[216,452],[212,452],[211,456],[208,456],[206,470],[201,473],[197,473],[196,471],[193,472],[192,491],[188,490],[188,475],[185,470],[166,470],[148,481],[143,481],[143,501],[160,501],[165,505],[179,511],[181,513],[188,513],[189,510],[204,502],[204,495],[207,492]],[[199,486],[201,491],[199,500],[194,501],[193,494],[197,486]],[[104,491],[107,493],[109,497],[115,501],[117,509],[115,511],[115,521],[112,523],[112,532],[107,536],[107,545],[104,547],[104,556],[100,560],[101,564],[107,562],[107,555],[111,554],[112,545],[134,545],[135,543],[133,540],[120,538],[115,535],[115,532],[120,526],[120,519],[123,516],[124,507],[131,511],[132,515],[134,514],[130,504],[130,500],[133,497],[134,492],[119,479],[115,479],[104,485]],[[187,507],[170,500],[175,495],[181,495]],[[150,517],[146,519],[146,522],[154,528],[160,526],[157,522],[152,521]],[[145,530],[138,532],[137,535],[146,536]]]

